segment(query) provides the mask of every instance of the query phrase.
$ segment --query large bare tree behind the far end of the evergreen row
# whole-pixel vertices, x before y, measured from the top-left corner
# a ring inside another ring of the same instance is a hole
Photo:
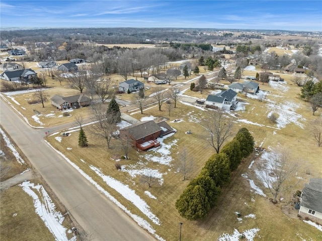
[[[232,135],[232,121],[225,117],[223,110],[215,110],[207,112],[202,124],[209,133],[209,144],[219,153],[224,141]]]

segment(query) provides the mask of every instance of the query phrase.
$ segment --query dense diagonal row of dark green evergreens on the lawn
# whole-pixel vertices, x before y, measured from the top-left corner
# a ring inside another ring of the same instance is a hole
[[[220,190],[231,179],[241,159],[249,156],[254,149],[254,138],[247,128],[241,128],[232,141],[221,151],[207,160],[198,177],[193,179],[180,195],[176,208],[188,220],[205,218],[215,207]]]

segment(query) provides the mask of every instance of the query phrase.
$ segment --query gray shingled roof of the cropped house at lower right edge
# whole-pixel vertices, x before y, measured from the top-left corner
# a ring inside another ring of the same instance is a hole
[[[301,206],[322,213],[322,179],[310,178],[304,185]]]

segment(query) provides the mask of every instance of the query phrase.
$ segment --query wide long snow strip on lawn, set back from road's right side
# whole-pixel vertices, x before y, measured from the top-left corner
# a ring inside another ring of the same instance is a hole
[[[144,213],[151,221],[157,225],[160,225],[160,220],[150,211],[149,205],[146,204],[144,200],[142,200],[134,190],[130,189],[128,185],[124,185],[120,181],[104,175],[98,168],[94,166],[90,166],[90,168],[100,176],[103,181],[113,188],[115,191],[120,193],[124,198],[133,203],[142,213]]]

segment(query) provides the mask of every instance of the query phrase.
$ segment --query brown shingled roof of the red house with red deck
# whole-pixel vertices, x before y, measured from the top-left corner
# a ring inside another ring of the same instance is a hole
[[[155,132],[162,131],[162,129],[152,120],[138,122],[134,125],[122,128],[120,131],[122,130],[129,132],[135,140],[141,139]]]

